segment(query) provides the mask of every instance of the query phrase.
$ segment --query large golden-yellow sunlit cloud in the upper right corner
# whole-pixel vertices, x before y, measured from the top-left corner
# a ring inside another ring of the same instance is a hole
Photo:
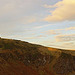
[[[55,5],[44,5],[46,8],[55,8],[44,20],[49,22],[74,21],[75,0],[62,0]]]

